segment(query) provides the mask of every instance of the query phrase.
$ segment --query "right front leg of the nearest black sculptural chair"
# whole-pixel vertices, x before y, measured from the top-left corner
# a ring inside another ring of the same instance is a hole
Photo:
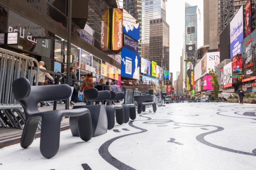
[[[92,117],[91,113],[77,116],[78,132],[83,141],[92,139]]]

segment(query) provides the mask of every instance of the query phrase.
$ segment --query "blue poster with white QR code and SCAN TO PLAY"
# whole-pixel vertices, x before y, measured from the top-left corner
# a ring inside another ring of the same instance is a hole
[[[140,56],[123,48],[121,53],[121,75],[129,78],[140,78]]]

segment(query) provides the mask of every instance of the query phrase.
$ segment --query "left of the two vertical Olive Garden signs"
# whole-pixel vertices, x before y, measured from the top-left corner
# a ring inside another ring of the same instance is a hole
[[[100,48],[102,51],[108,50],[109,42],[109,9],[106,9],[101,14],[100,25]]]

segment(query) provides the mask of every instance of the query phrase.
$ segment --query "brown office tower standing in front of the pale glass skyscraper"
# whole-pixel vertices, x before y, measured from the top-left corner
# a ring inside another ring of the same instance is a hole
[[[169,70],[169,25],[164,18],[149,22],[149,59]]]

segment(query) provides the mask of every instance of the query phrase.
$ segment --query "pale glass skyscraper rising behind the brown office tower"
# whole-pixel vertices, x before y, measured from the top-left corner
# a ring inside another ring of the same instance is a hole
[[[149,58],[149,21],[163,18],[166,20],[166,0],[142,0],[141,56]]]

